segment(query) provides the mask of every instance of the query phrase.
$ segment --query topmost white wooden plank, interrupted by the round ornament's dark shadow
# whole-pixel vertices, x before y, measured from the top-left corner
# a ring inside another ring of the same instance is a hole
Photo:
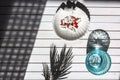
[[[120,7],[119,2],[115,1],[84,1],[84,0],[78,0],[87,7]],[[65,1],[47,1],[46,6],[59,6],[62,2]]]

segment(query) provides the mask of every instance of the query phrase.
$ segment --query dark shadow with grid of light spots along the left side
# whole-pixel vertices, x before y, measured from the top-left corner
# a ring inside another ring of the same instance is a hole
[[[46,1],[0,1],[0,80],[24,80]]]

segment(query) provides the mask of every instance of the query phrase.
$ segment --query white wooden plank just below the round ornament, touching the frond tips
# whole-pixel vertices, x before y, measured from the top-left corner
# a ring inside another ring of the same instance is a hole
[[[34,47],[50,47],[53,43],[57,47],[63,47],[66,44],[68,47],[86,47],[88,40],[74,40],[74,41],[66,41],[66,40],[36,40]],[[120,47],[120,40],[111,40],[110,47]]]

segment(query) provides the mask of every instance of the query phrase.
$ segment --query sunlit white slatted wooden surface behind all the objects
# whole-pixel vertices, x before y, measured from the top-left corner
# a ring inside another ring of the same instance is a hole
[[[59,47],[64,44],[73,47],[73,64],[71,73],[66,80],[118,80],[120,72],[120,2],[83,1],[91,14],[89,31],[75,41],[60,39],[53,31],[52,19],[58,6],[65,0],[48,0],[42,22],[39,27],[34,49],[27,67],[25,80],[44,80],[42,76],[42,62],[49,63],[49,50],[52,43]],[[113,0],[114,1],[114,0]],[[94,29],[106,30],[111,38],[108,53],[112,59],[112,66],[108,73],[95,76],[89,73],[85,66],[86,44],[90,32]]]

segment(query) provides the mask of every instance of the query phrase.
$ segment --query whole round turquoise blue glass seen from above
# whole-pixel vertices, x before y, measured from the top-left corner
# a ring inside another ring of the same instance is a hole
[[[85,63],[89,72],[95,75],[103,75],[111,67],[111,58],[107,52],[94,49],[88,53]]]

